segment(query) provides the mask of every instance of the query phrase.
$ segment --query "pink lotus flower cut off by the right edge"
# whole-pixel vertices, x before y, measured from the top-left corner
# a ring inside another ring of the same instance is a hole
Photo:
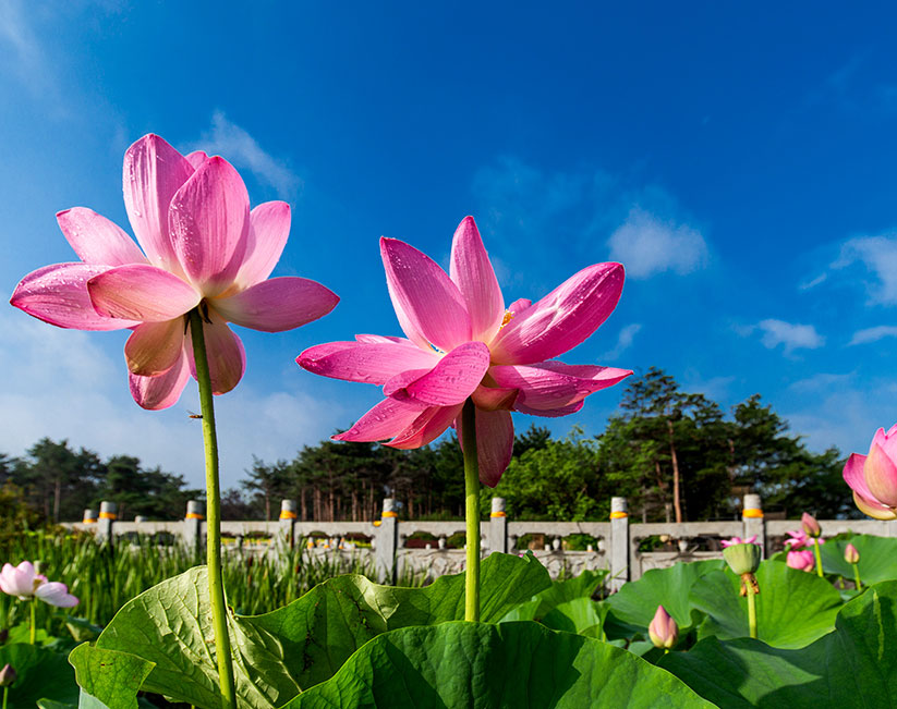
[[[853,453],[844,466],[860,512],[876,519],[897,519],[897,424],[875,431],[869,455]]]

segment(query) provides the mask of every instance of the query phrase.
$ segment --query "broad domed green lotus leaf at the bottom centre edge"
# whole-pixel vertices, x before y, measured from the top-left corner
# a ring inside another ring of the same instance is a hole
[[[284,709],[712,706],[626,650],[523,621],[386,633]]]

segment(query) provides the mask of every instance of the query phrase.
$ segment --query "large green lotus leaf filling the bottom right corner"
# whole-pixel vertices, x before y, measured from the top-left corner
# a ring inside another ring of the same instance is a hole
[[[897,583],[878,584],[847,603],[835,625],[799,650],[710,637],[658,664],[727,709],[897,706]]]

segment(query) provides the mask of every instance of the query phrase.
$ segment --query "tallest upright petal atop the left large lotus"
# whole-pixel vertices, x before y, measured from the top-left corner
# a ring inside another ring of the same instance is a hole
[[[168,231],[174,193],[193,174],[193,166],[158,135],[145,135],[124,154],[122,186],[131,227],[149,262],[180,276]]]

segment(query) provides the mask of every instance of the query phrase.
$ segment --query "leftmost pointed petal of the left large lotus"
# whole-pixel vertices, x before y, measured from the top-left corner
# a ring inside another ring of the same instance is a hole
[[[107,270],[89,264],[54,264],[28,273],[10,303],[28,315],[60,328],[75,330],[121,330],[137,320],[114,319],[94,309],[87,281]]]

